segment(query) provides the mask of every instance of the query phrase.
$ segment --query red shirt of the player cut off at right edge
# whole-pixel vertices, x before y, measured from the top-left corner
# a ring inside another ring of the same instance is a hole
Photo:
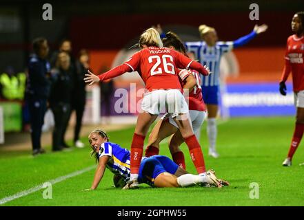
[[[296,34],[287,39],[285,66],[281,81],[285,82],[292,72],[294,91],[304,90],[304,36],[298,38]]]

